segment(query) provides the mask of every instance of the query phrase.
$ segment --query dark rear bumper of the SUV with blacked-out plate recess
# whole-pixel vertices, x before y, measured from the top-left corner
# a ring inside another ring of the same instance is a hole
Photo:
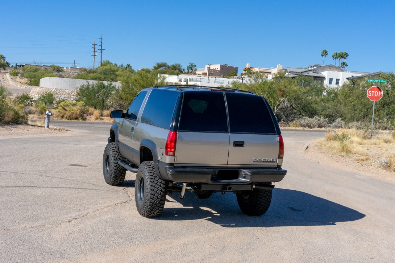
[[[201,182],[206,184],[250,184],[263,182],[279,182],[287,171],[276,168],[245,167],[205,167],[205,168],[173,168],[158,165],[161,177],[173,182]],[[218,177],[218,171],[222,176]],[[226,173],[232,174],[226,178]],[[225,176],[224,176],[225,174]]]

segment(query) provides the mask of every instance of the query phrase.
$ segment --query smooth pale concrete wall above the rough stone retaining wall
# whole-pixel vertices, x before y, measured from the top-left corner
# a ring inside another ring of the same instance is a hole
[[[75,90],[79,88],[83,84],[97,83],[98,81],[91,81],[86,79],[69,79],[69,78],[56,78],[56,77],[45,77],[40,79],[40,87],[41,88],[61,88],[68,90]],[[112,83],[113,85],[120,88],[121,83],[119,82],[109,82],[102,81],[104,84]]]

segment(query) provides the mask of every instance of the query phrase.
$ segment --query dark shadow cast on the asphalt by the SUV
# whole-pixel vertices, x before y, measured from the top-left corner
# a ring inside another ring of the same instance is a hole
[[[223,227],[278,227],[336,225],[337,222],[351,222],[365,217],[364,214],[305,192],[274,188],[269,210],[262,216],[247,216],[241,212],[236,196],[214,193],[209,199],[197,199],[186,194],[184,199],[173,194],[181,208],[165,208],[154,220],[196,220],[211,221]],[[167,198],[167,202],[172,202]]]

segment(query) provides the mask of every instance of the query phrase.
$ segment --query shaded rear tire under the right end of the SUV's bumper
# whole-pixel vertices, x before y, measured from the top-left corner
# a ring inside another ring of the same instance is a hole
[[[261,216],[269,209],[272,190],[243,191],[236,193],[237,203],[243,213],[249,216]]]

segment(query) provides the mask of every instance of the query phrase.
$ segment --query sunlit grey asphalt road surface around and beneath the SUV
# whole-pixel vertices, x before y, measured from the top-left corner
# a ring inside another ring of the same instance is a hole
[[[167,197],[158,218],[135,209],[134,174],[102,175],[109,123],[0,137],[0,262],[393,262],[395,184],[307,160],[324,131],[283,130],[284,169],[263,216],[235,195]]]

